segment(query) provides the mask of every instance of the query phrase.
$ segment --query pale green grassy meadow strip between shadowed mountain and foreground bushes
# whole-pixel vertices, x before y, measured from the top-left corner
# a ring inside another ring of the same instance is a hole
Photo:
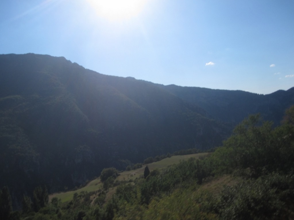
[[[150,171],[158,169],[164,169],[170,165],[180,163],[182,160],[187,160],[191,157],[194,158],[200,158],[208,155],[208,153],[197,153],[197,154],[188,154],[188,155],[176,155],[172,156],[170,158],[165,158],[163,160],[153,162],[148,164],[148,168]],[[145,165],[143,167],[136,169],[136,170],[130,170],[130,171],[124,171],[119,173],[119,176],[116,178],[118,181],[129,181],[129,180],[135,180],[136,178],[143,177]],[[49,201],[53,197],[57,197],[58,199],[61,199],[61,202],[70,202],[71,199],[73,198],[75,193],[80,193],[80,192],[96,192],[99,189],[103,188],[103,183],[100,181],[100,178],[96,178],[92,181],[90,181],[86,186],[76,189],[73,191],[67,191],[67,192],[61,192],[61,193],[54,193],[49,195]],[[111,191],[111,189],[109,189]]]

